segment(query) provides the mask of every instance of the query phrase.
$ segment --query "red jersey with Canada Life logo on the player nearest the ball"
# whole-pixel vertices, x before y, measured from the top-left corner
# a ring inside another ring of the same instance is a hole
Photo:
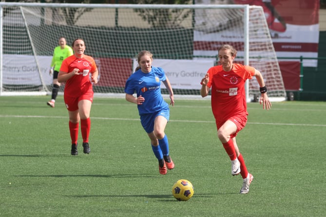
[[[207,86],[211,88],[211,109],[217,121],[227,121],[234,115],[248,115],[245,82],[252,79],[255,68],[233,63],[230,72],[221,65],[211,67]]]

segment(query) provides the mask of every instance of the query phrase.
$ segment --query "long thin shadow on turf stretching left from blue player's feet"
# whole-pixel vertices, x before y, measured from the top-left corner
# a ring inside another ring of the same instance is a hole
[[[65,177],[95,177],[95,178],[157,178],[149,174],[117,174],[117,175],[20,175],[15,177],[53,177],[53,178],[65,178]]]

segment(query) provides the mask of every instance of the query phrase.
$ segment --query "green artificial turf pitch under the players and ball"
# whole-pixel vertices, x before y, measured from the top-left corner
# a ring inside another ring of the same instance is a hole
[[[248,103],[237,143],[254,176],[241,176],[216,135],[210,101],[175,100],[166,134],[175,168],[162,176],[135,104],[95,98],[85,155],[70,155],[68,112],[59,96],[0,97],[1,217],[324,217],[326,102]],[[177,201],[188,179],[194,195]]]

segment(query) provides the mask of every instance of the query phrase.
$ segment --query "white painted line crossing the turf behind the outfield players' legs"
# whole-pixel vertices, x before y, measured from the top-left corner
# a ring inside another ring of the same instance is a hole
[[[37,116],[37,115],[0,115],[0,118],[68,118],[63,116]],[[140,121],[139,118],[99,118],[91,117],[92,119],[102,120],[133,120]],[[205,120],[170,120],[171,122],[187,122],[187,123],[215,123],[215,121]],[[266,123],[266,122],[247,122],[247,124],[263,124],[263,125],[285,125],[285,126],[313,126],[326,127],[326,124],[305,124],[305,123]]]

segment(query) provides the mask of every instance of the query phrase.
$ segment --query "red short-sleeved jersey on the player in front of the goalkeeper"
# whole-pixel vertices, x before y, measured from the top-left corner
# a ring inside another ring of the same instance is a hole
[[[97,69],[94,59],[87,55],[78,59],[72,55],[63,60],[60,71],[69,73],[76,68],[79,69],[80,74],[68,79],[64,87],[64,94],[68,97],[77,98],[89,90],[93,91],[89,74]]]

